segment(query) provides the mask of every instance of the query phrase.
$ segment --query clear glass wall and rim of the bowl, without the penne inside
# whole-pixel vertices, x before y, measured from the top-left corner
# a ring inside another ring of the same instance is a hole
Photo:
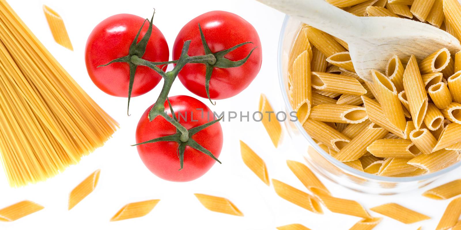
[[[293,111],[287,94],[288,57],[300,25],[301,22],[296,18],[286,16],[278,44],[278,77],[284,109],[287,114]],[[461,162],[457,162],[440,171],[416,177],[383,177],[364,173],[343,164],[322,150],[307,134],[299,121],[292,122],[287,119],[284,125],[291,138],[290,145],[304,156],[307,165],[313,171],[337,184],[360,192],[390,195],[414,190],[430,184],[437,178],[461,166]]]

